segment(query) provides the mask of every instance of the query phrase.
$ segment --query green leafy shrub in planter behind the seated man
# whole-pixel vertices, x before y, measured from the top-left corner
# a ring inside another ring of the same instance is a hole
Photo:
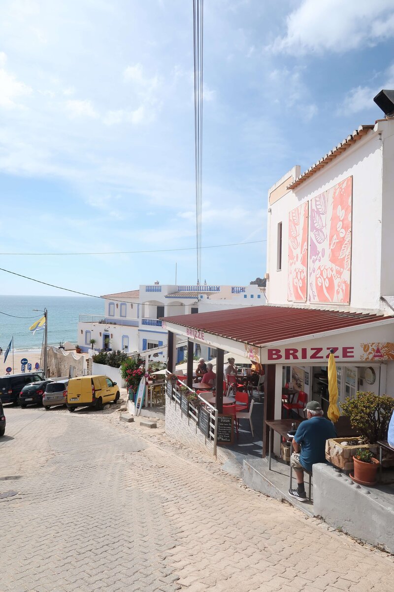
[[[341,403],[344,416],[349,417],[351,427],[359,432],[366,442],[375,444],[386,440],[389,421],[394,411],[394,398],[376,395],[375,392],[357,392],[356,397],[347,397]]]

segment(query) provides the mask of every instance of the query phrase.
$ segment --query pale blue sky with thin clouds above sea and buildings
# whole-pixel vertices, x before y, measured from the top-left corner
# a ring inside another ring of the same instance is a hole
[[[175,263],[196,282],[192,6],[2,0],[1,268],[93,295]],[[393,0],[205,1],[203,245],[252,244],[203,249],[201,281],[263,276],[269,187],[383,117],[393,49]],[[4,271],[0,293],[67,294]]]

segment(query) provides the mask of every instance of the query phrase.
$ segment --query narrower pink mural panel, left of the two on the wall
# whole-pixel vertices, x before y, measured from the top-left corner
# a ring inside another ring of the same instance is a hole
[[[289,212],[287,299],[307,300],[308,202]]]

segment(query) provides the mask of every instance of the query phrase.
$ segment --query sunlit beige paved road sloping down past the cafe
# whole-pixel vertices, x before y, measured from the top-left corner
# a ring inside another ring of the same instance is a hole
[[[118,409],[6,409],[1,592],[392,591],[389,556]]]

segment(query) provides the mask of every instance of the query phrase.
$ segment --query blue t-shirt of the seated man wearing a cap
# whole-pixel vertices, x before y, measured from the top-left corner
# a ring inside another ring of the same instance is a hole
[[[325,417],[311,417],[301,422],[295,432],[294,439],[301,444],[299,462],[307,471],[312,471],[315,462],[325,460],[325,440],[335,438],[337,432],[333,424]]]

